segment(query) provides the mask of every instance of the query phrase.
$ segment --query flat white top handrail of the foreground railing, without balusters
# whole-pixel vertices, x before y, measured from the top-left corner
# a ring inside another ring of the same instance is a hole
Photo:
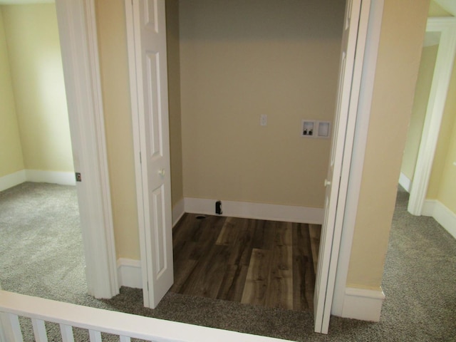
[[[135,316],[0,290],[0,313],[59,323],[118,336],[157,342],[279,342],[279,338],[249,335],[187,323]],[[1,328],[1,325],[0,325]],[[1,334],[0,334],[1,336]]]

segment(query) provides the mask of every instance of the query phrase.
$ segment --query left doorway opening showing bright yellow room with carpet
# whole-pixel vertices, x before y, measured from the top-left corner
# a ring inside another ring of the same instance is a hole
[[[1,152],[9,169],[1,177],[1,283],[55,299],[72,284],[87,292],[56,6],[0,9],[9,139]]]

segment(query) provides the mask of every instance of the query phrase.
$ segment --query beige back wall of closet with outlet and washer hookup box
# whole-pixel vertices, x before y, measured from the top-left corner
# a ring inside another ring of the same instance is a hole
[[[323,207],[343,2],[180,1],[185,197]]]

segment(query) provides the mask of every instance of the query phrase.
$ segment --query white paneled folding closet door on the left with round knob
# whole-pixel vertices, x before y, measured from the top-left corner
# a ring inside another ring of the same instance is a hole
[[[127,14],[127,26],[134,38],[129,58],[130,86],[136,93],[134,134],[139,135],[135,150],[142,290],[145,306],[155,308],[174,281],[165,0],[133,0],[126,8],[133,11]]]

